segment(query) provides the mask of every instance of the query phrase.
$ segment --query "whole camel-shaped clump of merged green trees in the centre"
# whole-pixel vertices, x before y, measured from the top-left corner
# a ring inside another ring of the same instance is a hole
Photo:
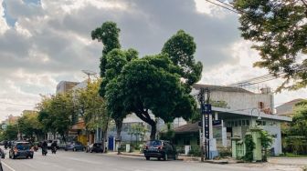
[[[156,121],[149,110],[164,122],[180,116],[187,119],[196,111],[196,101],[189,95],[202,72],[202,64],[194,59],[196,44],[192,36],[180,30],[165,43],[162,55],[140,59],[136,50],[120,49],[119,32],[115,23],[106,22],[91,33],[92,39],[104,45],[100,95],[106,98],[118,136],[123,118],[134,113],[152,126],[154,139]]]

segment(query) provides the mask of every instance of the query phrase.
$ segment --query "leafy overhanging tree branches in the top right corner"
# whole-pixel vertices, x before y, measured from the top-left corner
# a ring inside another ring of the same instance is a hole
[[[305,0],[234,0],[240,13],[241,35],[255,43],[267,68],[285,78],[279,91],[307,85],[307,2]],[[291,84],[293,81],[293,84]]]

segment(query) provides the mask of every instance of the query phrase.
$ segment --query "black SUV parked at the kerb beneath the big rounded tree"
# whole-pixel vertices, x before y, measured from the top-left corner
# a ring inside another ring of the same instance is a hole
[[[169,141],[164,140],[147,141],[143,152],[146,160],[150,160],[151,157],[156,157],[158,160],[161,158],[164,160],[173,158],[175,160],[177,156],[175,146],[173,146]]]

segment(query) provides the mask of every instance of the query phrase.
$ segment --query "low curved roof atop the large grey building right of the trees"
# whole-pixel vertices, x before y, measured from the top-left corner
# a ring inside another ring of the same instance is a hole
[[[211,92],[212,91],[220,91],[220,92],[238,92],[238,93],[249,93],[254,94],[244,88],[238,86],[224,86],[224,85],[202,85],[202,84],[194,84],[193,87],[195,89],[200,88],[208,88]]]

